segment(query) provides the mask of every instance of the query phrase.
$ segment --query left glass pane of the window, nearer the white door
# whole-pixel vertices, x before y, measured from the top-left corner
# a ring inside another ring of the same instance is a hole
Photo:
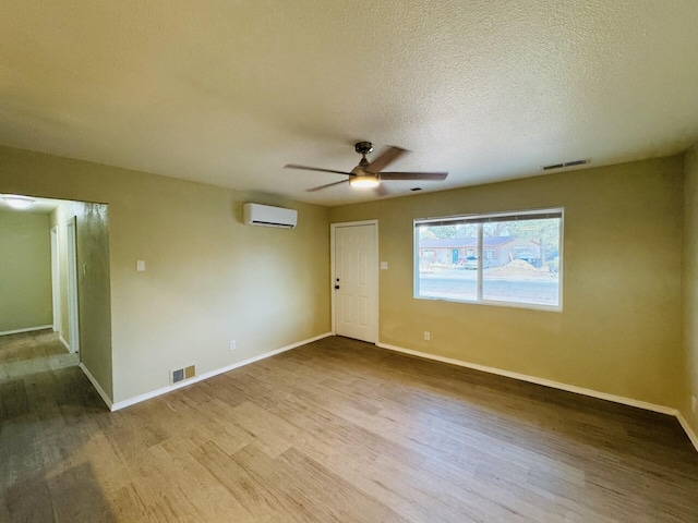
[[[477,299],[477,224],[420,226],[417,250],[418,296]]]

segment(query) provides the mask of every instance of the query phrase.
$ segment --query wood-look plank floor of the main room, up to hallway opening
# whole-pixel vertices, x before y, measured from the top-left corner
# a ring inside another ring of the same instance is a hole
[[[109,413],[0,380],[2,522],[696,522],[660,414],[327,338]]]

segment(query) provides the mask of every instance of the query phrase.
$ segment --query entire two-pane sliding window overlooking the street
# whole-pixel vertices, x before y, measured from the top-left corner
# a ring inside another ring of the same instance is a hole
[[[562,309],[562,231],[559,208],[414,220],[414,297]]]

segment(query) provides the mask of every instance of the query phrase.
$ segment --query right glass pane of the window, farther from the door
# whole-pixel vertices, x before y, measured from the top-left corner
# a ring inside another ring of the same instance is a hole
[[[558,305],[559,218],[483,223],[482,299]]]

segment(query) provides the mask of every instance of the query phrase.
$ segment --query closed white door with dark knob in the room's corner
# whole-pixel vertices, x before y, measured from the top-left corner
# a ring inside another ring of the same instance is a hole
[[[335,332],[377,341],[377,224],[335,226]]]

